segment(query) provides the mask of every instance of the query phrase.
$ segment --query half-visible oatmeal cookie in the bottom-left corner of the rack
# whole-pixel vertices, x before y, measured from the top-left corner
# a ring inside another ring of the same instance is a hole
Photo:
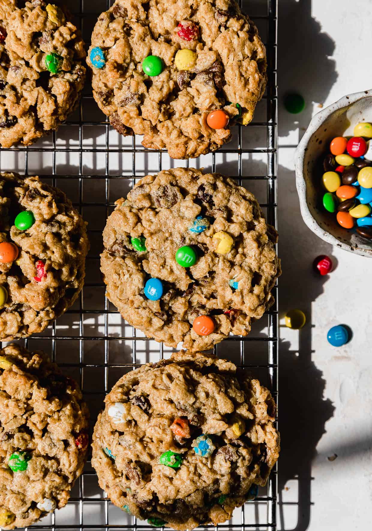
[[[88,448],[81,390],[40,350],[0,351],[0,526],[26,527],[64,507]]]

